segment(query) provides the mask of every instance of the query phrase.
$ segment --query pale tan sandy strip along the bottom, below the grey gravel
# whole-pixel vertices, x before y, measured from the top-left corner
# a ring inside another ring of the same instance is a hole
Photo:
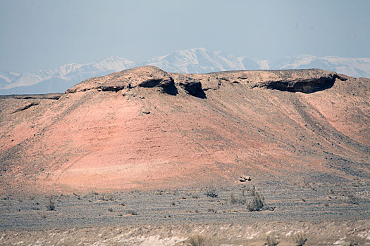
[[[242,224],[177,224],[166,226],[110,226],[51,229],[46,231],[2,231],[4,245],[188,245],[200,236],[204,245],[265,245],[267,238],[278,245],[370,245],[369,220],[318,222],[245,221]]]

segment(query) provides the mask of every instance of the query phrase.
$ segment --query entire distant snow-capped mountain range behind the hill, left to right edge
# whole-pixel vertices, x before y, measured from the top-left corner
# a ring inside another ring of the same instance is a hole
[[[370,58],[291,56],[276,60],[255,60],[206,48],[173,51],[166,56],[134,63],[120,57],[109,57],[96,63],[66,64],[54,70],[37,72],[0,72],[0,94],[63,92],[90,77],[108,75],[140,65],[154,65],[167,72],[206,73],[226,70],[269,70],[321,68],[353,77],[370,77]]]

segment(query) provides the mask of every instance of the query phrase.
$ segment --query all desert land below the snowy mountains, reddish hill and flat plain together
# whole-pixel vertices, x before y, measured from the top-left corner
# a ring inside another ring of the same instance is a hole
[[[144,66],[0,96],[0,245],[370,245],[369,91]]]

